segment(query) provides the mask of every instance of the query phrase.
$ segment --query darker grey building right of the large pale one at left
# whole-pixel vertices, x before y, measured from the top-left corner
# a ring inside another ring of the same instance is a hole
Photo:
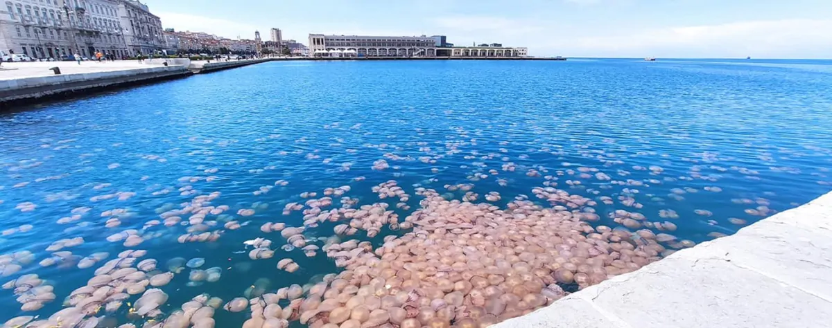
[[[118,4],[118,17],[131,56],[150,55],[166,47],[161,20],[146,4],[138,0],[118,0]]]

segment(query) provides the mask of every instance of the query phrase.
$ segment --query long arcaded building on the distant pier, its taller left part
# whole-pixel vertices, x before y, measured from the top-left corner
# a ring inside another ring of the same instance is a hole
[[[314,56],[435,56],[432,37],[372,37],[310,34],[310,52]]]

